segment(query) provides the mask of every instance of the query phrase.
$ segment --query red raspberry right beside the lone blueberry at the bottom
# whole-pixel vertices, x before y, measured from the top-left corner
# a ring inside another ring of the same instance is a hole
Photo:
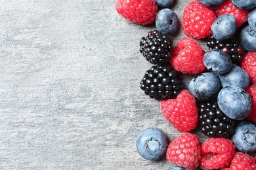
[[[200,143],[192,133],[184,133],[174,139],[167,148],[167,161],[176,163],[186,170],[194,170],[200,160]]]

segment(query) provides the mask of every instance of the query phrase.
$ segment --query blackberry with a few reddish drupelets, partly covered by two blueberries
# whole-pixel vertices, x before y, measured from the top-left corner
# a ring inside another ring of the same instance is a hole
[[[240,42],[236,40],[234,37],[226,40],[219,41],[211,35],[208,38],[207,46],[209,50],[211,49],[219,49],[225,52],[230,56],[233,63],[239,63],[244,55],[246,54],[245,49],[241,46]]]

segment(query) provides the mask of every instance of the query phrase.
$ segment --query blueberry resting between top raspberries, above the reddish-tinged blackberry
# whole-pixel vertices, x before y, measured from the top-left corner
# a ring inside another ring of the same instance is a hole
[[[230,14],[218,16],[211,25],[213,37],[219,41],[230,39],[236,32],[236,18]]]

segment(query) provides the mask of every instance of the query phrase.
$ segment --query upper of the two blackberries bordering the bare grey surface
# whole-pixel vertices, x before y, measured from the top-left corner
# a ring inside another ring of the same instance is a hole
[[[140,53],[152,64],[169,64],[173,52],[173,40],[158,30],[148,32],[140,39]]]

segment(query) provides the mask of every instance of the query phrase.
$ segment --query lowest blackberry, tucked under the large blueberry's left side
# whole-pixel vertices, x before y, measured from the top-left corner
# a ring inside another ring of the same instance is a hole
[[[229,138],[234,134],[236,121],[228,118],[219,109],[217,102],[201,102],[198,104],[200,129],[207,137]]]

